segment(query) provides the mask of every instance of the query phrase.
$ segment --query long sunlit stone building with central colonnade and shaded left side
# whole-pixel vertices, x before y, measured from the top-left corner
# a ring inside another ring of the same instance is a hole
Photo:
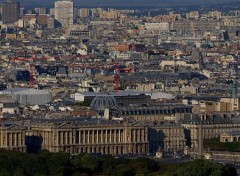
[[[32,124],[27,132],[29,150],[47,149],[71,154],[144,154],[148,152],[148,128],[138,123],[98,119],[48,120]]]

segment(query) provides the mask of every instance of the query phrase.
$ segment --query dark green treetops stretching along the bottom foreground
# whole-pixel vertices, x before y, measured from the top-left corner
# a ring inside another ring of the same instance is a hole
[[[210,161],[167,164],[148,158],[116,159],[110,155],[71,156],[41,151],[27,154],[0,150],[1,176],[235,176],[236,169]]]

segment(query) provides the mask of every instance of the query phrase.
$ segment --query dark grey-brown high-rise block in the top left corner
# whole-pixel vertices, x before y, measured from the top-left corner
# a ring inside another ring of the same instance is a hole
[[[17,0],[4,0],[2,2],[3,24],[14,23],[20,18],[20,3]]]

